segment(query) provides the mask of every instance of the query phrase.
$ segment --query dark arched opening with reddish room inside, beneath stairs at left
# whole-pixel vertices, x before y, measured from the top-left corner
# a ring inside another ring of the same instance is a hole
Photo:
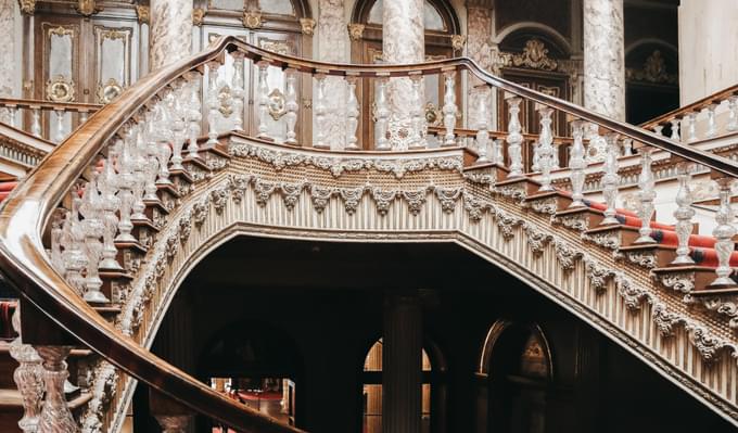
[[[281,329],[262,321],[240,321],[221,329],[201,354],[199,375],[233,400],[281,423],[296,425],[302,357]],[[211,426],[226,432],[227,426]],[[208,429],[208,431],[211,431]]]

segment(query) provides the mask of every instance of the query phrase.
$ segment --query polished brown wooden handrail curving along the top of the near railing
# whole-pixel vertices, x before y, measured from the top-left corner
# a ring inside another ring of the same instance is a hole
[[[336,76],[389,77],[410,73],[434,74],[449,69],[468,69],[488,85],[570,113],[607,129],[703,164],[718,171],[738,176],[738,165],[707,152],[680,144],[482,71],[470,59],[460,58],[419,65],[336,65],[271,53],[234,37],[218,40],[206,51],[158,69],[126,89],[114,102],[59,144],[47,158],[14,190],[0,208],[0,268],[21,295],[34,304],[62,329],[98,352],[128,374],[208,417],[240,431],[300,432],[273,419],[245,408],[211,390],[183,371],[168,365],[124,336],[99,316],[51,266],[41,233],[67,193],[69,187],[103,150],[117,129],[143,104],[188,71],[207,62],[220,61],[226,51],[242,51],[253,61],[269,61],[311,74]]]

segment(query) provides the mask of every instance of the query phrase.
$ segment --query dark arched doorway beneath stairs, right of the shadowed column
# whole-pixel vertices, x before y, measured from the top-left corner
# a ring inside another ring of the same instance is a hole
[[[498,321],[489,329],[480,361],[486,405],[478,432],[544,433],[552,379],[551,353],[537,324]]]

